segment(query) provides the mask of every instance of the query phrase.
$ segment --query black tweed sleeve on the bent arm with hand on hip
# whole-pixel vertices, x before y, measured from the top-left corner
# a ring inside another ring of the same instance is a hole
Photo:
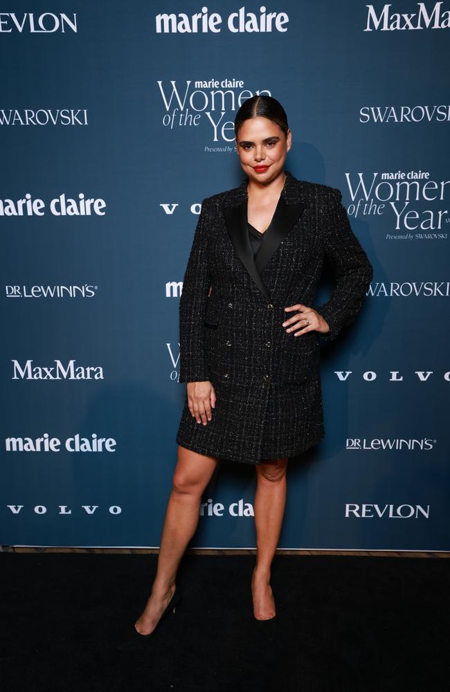
[[[334,287],[327,302],[315,307],[330,326],[325,341],[333,341],[359,313],[373,277],[373,267],[350,227],[342,193],[331,188],[330,214],[325,228],[325,255],[334,273]]]

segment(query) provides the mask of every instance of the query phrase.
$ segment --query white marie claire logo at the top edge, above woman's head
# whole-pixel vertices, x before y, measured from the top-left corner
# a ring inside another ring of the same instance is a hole
[[[219,34],[223,21],[219,12],[209,12],[207,7],[202,7],[201,12],[194,15],[161,12],[155,17],[155,28],[157,34]],[[255,12],[246,12],[242,6],[226,17],[226,28],[231,33],[284,33],[288,22],[287,12],[267,12],[267,8],[261,6],[259,15],[256,15]]]

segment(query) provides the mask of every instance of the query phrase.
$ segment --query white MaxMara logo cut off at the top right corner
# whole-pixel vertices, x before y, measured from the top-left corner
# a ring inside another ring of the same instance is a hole
[[[448,29],[450,27],[450,12],[442,11],[443,2],[429,4],[416,3],[415,12],[391,12],[392,3],[383,8],[366,5],[367,24],[364,31],[404,31],[417,29]]]

